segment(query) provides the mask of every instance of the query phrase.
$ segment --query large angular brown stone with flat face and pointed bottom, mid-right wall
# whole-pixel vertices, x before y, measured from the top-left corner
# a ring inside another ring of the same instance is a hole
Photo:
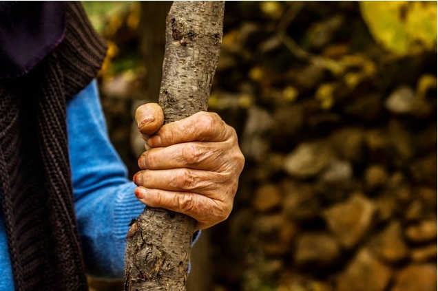
[[[374,213],[373,202],[361,194],[354,194],[346,202],[326,209],[323,216],[341,245],[350,249],[364,239]]]

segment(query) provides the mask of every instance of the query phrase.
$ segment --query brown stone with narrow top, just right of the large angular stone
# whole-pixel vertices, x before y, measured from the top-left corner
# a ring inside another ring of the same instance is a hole
[[[390,263],[395,263],[408,257],[409,249],[404,242],[400,222],[390,222],[383,232],[373,240],[371,249],[377,257]]]

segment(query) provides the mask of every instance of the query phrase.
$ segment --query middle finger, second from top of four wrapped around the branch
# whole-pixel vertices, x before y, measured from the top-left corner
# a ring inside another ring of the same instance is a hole
[[[191,168],[224,171],[229,157],[228,142],[187,142],[169,147],[152,148],[138,158],[138,166],[145,170]]]

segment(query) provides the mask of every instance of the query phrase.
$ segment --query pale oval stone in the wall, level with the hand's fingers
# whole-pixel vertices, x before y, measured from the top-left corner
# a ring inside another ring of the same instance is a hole
[[[313,177],[333,159],[331,149],[324,142],[304,142],[284,160],[284,170],[293,177]]]

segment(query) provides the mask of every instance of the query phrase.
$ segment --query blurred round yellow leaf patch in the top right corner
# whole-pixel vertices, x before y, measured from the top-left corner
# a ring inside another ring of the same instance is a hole
[[[373,37],[404,56],[436,50],[436,1],[361,1],[362,16]]]

